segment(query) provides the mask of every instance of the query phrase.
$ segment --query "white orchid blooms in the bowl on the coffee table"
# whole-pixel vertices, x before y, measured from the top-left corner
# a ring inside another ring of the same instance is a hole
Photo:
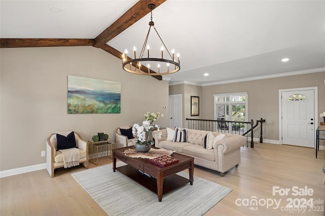
[[[140,126],[138,123],[134,124],[132,127],[132,133],[134,136],[137,137],[137,143],[140,144],[146,144],[146,143],[153,143],[153,140],[148,140],[150,131],[152,132],[153,129],[157,129],[159,131],[159,126],[155,125],[152,126],[151,122],[146,120],[142,122],[142,125]],[[161,138],[161,132],[158,133],[158,139]]]

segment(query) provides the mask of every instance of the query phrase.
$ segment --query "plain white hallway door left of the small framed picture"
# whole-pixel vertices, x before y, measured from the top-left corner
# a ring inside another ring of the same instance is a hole
[[[182,95],[169,95],[169,127],[183,127]]]

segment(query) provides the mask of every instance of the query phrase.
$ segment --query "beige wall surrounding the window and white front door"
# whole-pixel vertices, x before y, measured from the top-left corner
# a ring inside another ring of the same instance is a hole
[[[304,87],[318,87],[318,122],[323,119],[319,113],[325,111],[325,72],[295,75],[288,77],[271,78],[247,82],[238,82],[222,85],[204,86],[202,107],[204,119],[213,119],[213,94],[247,92],[248,93],[248,120],[266,119],[263,127],[263,137],[279,140],[279,90]],[[259,131],[254,133],[258,137]]]

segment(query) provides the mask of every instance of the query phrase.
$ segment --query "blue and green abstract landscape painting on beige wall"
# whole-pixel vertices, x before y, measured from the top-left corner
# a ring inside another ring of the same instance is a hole
[[[68,76],[68,114],[121,113],[121,83]]]

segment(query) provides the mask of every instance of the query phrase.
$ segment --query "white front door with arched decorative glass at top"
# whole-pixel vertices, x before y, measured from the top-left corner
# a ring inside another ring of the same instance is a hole
[[[282,143],[314,148],[314,90],[282,92]]]

